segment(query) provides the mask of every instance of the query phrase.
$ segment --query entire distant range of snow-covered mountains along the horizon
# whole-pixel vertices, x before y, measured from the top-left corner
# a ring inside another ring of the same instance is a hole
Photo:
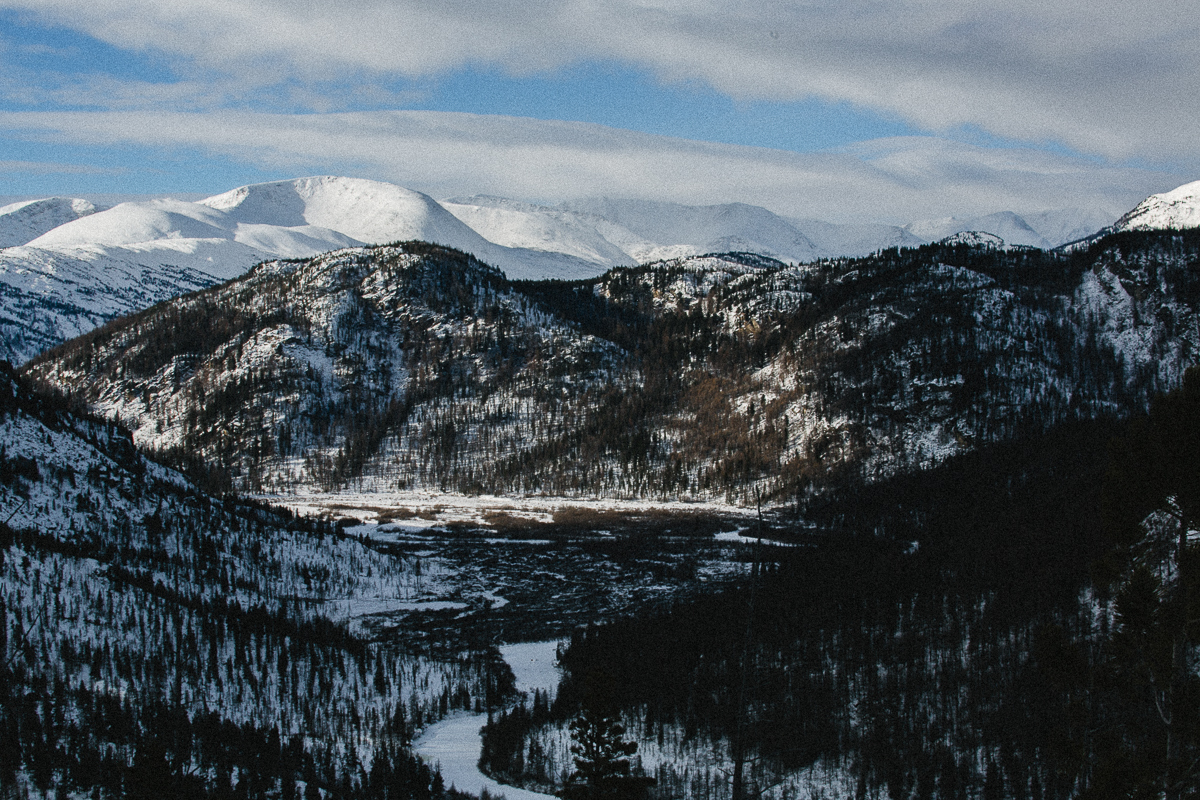
[[[1196,207],[1194,192],[1165,203],[1174,203],[1172,213],[1157,211],[1128,224],[1181,222],[1192,218],[1181,209]],[[197,203],[158,199],[109,209],[50,198],[0,209],[0,357],[23,363],[109,319],[236,277],[259,261],[364,245],[420,240],[470,253],[514,279],[581,279],[706,253],[749,252],[785,263],[859,257],[966,231],[1048,249],[1111,222],[1110,215],[1082,209],[900,227],[787,218],[745,204],[596,198],[547,206],[494,197],[439,203],[349,178],[258,184]]]

